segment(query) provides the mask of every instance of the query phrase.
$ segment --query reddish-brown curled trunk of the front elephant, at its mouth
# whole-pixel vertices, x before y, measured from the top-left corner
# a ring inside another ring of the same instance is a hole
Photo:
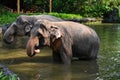
[[[31,37],[27,43],[27,55],[33,57],[36,53],[39,53],[39,39],[38,37]]]

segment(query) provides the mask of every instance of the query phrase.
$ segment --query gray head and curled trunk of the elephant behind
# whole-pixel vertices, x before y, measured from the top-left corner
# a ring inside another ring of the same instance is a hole
[[[15,22],[13,22],[9,28],[5,31],[3,40],[10,44],[14,42],[17,36],[24,36],[29,33],[30,28],[32,28],[32,24],[30,22],[30,17],[21,15],[17,18]]]

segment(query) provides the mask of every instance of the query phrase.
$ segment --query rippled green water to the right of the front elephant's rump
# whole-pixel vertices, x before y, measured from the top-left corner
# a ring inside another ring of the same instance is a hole
[[[120,24],[94,25],[93,28],[101,40],[97,79],[120,80]]]

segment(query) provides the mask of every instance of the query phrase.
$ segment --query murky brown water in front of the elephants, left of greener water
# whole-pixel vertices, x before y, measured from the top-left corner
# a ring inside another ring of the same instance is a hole
[[[24,49],[1,49],[1,52],[0,63],[10,67],[22,80],[94,80],[98,76],[96,61],[73,60],[71,66],[55,64],[51,50],[46,48],[33,58]]]

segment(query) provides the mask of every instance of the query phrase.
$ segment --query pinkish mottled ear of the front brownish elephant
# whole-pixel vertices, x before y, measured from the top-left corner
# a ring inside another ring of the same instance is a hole
[[[52,42],[54,42],[56,39],[59,39],[62,37],[62,32],[58,26],[51,26],[50,28],[50,38],[52,39]]]

